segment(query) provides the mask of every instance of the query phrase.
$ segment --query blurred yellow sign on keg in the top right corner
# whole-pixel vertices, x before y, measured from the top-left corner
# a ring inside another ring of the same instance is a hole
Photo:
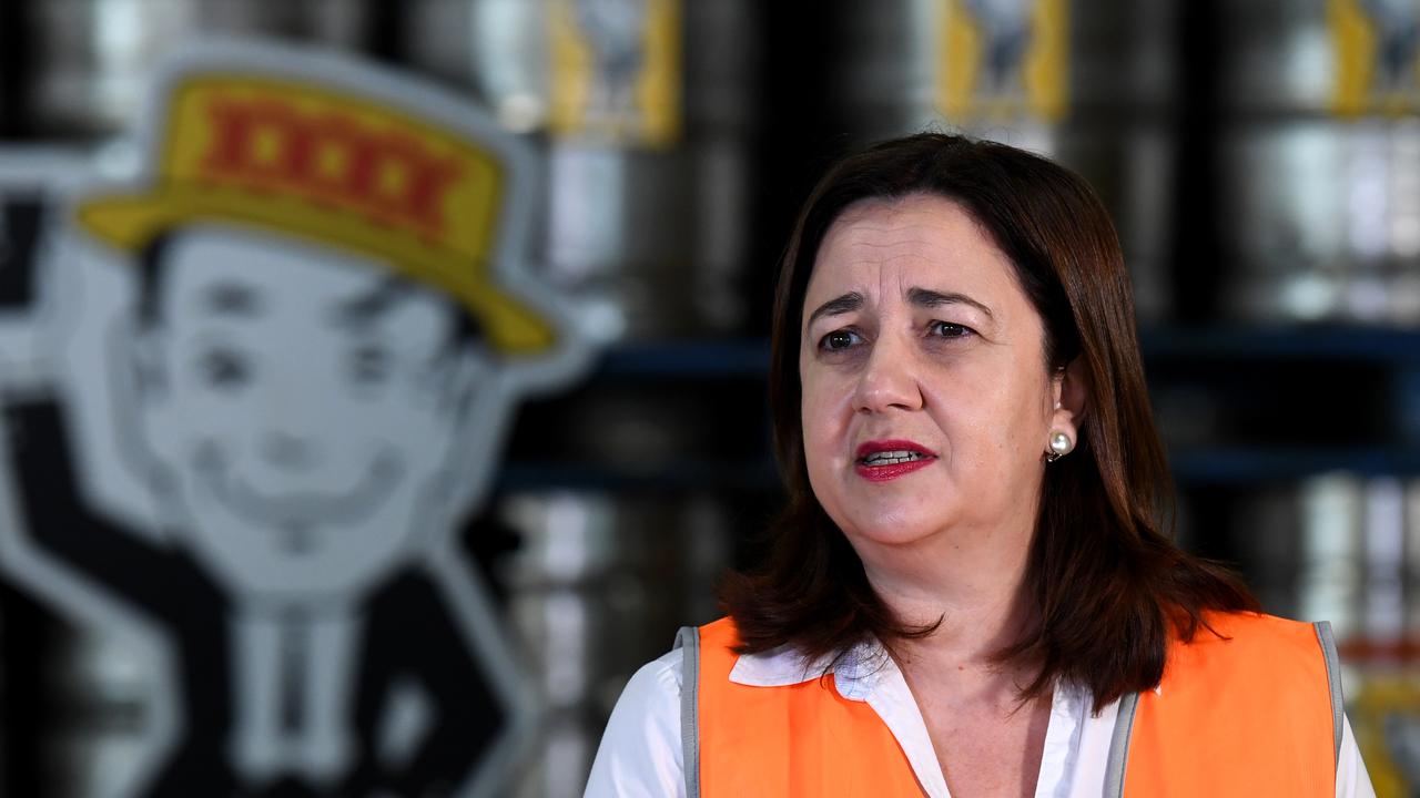
[[[1379,18],[1363,0],[1328,0],[1335,54],[1332,112],[1339,116],[1420,111],[1420,14]]]

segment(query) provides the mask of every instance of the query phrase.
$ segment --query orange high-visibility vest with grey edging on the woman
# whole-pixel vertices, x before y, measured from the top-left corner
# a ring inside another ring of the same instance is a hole
[[[1342,734],[1336,647],[1326,623],[1210,613],[1174,640],[1159,690],[1120,699],[1106,797],[1335,795]],[[682,738],[690,798],[920,797],[888,724],[832,679],[781,687],[730,682],[728,618],[682,629]]]

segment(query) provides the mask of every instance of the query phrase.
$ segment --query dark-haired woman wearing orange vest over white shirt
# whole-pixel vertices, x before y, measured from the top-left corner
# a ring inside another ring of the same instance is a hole
[[[929,133],[838,163],[774,310],[790,507],[588,795],[1372,795],[1325,625],[1170,542],[1108,214]]]

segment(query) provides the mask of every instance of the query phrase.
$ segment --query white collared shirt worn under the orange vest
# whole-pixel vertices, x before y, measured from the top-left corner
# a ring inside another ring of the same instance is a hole
[[[730,680],[780,687],[818,679],[822,672],[822,663],[805,666],[792,652],[780,650],[741,656],[730,672]],[[586,784],[586,798],[684,798],[680,680],[679,650],[650,662],[632,676],[606,723]],[[907,754],[924,795],[950,798],[922,711],[902,670],[880,645],[863,643],[849,650],[834,669],[834,684],[845,699],[866,701],[883,718]],[[1109,704],[1098,716],[1089,710],[1086,690],[1064,684],[1054,690],[1035,798],[1103,795],[1109,740],[1119,704]],[[1336,798],[1375,795],[1348,720],[1336,768]]]

